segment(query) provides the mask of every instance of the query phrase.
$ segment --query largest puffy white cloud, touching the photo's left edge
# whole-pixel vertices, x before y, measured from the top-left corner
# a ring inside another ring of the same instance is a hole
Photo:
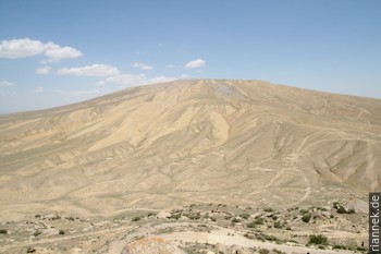
[[[83,53],[72,47],[61,47],[54,43],[41,43],[29,38],[1,40],[0,58],[26,58],[45,55],[49,59],[46,62],[54,62],[65,58],[77,58]]]

